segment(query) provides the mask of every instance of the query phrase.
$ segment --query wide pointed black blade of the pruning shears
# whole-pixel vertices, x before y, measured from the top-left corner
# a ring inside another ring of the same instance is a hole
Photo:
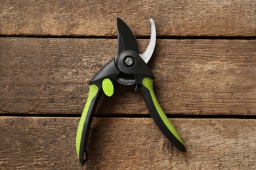
[[[133,31],[119,17],[117,17],[117,32],[117,54],[124,50],[133,50],[139,54],[139,46]]]

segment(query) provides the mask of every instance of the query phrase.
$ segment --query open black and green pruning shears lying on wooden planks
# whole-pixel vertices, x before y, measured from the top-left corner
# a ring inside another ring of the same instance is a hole
[[[117,17],[117,56],[111,59],[89,82],[89,95],[76,134],[76,152],[81,165],[89,156],[87,141],[93,114],[102,92],[108,97],[114,93],[114,83],[134,85],[142,92],[148,110],[156,125],[179,150],[186,152],[181,137],[161,109],[154,93],[154,75],[148,65],[156,45],[156,27],[150,19],[151,37],[145,52],[139,54],[137,39],[129,26]],[[84,158],[85,157],[85,158]]]

